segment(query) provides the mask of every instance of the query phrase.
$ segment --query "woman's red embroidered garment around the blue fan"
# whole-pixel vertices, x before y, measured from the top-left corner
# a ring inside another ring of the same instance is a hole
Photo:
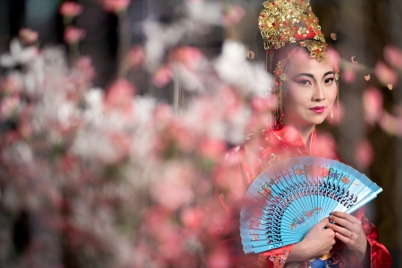
[[[231,267],[311,267],[307,261],[286,264],[292,245],[258,255],[245,255],[239,236],[239,207],[249,185],[272,163],[308,155],[336,159],[331,140],[317,138],[314,130],[310,150],[307,150],[298,131],[289,125],[282,125],[279,130],[265,130],[261,135],[251,134],[245,139],[245,144],[234,147],[227,154],[225,179],[217,182],[217,188],[221,190],[222,205],[233,221],[237,222],[231,229],[233,234],[222,239],[223,247],[230,251]],[[366,254],[370,254],[371,267],[390,267],[392,259],[389,252],[378,242],[376,228],[364,217],[364,207],[353,215],[362,222],[364,234],[370,244],[370,253]],[[362,267],[354,253],[339,240],[332,247],[330,254],[331,264],[326,267]]]

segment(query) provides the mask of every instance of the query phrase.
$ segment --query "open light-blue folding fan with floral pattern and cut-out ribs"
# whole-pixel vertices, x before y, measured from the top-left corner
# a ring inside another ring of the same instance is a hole
[[[381,191],[364,174],[331,159],[275,163],[247,190],[240,214],[243,249],[261,253],[297,243],[331,212],[351,214]]]

